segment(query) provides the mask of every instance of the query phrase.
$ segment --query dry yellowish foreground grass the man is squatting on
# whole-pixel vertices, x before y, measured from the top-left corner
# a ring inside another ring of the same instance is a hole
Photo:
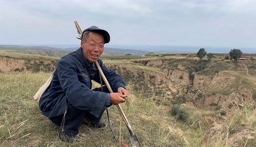
[[[50,74],[20,73],[0,74],[0,146],[119,146],[119,140],[130,146],[128,130],[115,106],[110,107],[110,117],[116,131],[113,139],[109,128],[95,130],[82,126],[73,144],[66,144],[57,137],[58,127],[43,116],[33,94]],[[162,106],[156,106],[152,97],[133,93],[131,86],[130,107],[122,104],[133,131],[144,146],[184,146],[173,129],[172,117]],[[140,115],[137,115],[140,114]],[[107,122],[106,114],[103,121]]]

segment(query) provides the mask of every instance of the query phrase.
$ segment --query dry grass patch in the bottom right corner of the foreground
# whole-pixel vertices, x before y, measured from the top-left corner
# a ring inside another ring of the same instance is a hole
[[[233,96],[233,109],[229,112],[231,115],[220,128],[219,134],[203,143],[205,146],[255,146],[256,134],[253,135],[253,130],[256,130],[256,105],[238,104],[239,95]]]

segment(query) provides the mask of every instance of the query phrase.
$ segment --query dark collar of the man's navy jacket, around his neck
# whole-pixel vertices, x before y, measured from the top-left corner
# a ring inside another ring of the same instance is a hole
[[[95,63],[89,63],[86,60],[82,47],[78,48],[78,50],[75,51],[75,56],[85,68],[87,69],[93,68],[94,70],[97,70]]]

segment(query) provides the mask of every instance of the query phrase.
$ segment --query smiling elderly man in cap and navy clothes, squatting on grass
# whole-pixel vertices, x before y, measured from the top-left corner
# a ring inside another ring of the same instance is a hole
[[[92,26],[83,31],[81,39],[81,47],[64,56],[58,63],[52,82],[39,102],[42,113],[61,126],[58,136],[65,142],[74,141],[82,123],[94,128],[106,127],[100,122],[105,108],[125,102],[124,98],[129,95],[121,76],[99,59],[104,44],[110,41],[109,33]],[[91,89],[91,80],[97,83],[101,81],[96,61],[114,93],[109,93],[106,86]]]

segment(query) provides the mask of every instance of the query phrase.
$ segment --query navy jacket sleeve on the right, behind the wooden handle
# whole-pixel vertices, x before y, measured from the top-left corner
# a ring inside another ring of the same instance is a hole
[[[102,68],[102,71],[114,92],[117,92],[117,89],[119,87],[125,88],[125,81],[123,80],[123,78],[120,75],[116,74],[115,70],[109,69],[108,67],[106,67],[103,64],[102,60],[99,60],[98,62],[99,62],[100,66]]]

